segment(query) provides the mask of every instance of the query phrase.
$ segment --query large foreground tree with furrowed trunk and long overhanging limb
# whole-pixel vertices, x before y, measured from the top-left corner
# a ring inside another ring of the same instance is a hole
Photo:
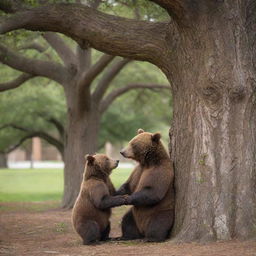
[[[53,4],[11,16],[0,32],[57,31],[82,48],[157,65],[173,92],[173,234],[203,241],[255,237],[256,1],[152,2],[166,9],[169,21]]]

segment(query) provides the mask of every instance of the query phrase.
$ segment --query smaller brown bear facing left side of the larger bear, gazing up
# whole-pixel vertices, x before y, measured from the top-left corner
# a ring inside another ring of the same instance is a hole
[[[114,186],[109,174],[118,166],[118,160],[104,154],[86,156],[86,165],[80,193],[72,212],[74,229],[83,244],[107,240],[110,232],[111,207],[125,204],[124,196],[113,196]]]

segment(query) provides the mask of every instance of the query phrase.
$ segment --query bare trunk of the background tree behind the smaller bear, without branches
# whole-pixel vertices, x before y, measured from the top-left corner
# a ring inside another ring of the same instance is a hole
[[[97,150],[100,115],[96,107],[83,106],[77,90],[69,86],[66,91],[68,127],[65,142],[63,208],[71,208],[79,193],[86,154]],[[84,102],[88,99],[84,99]],[[80,102],[80,104],[79,104]]]

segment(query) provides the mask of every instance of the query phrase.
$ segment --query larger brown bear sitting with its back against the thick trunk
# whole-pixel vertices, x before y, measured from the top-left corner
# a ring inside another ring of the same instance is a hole
[[[139,164],[117,194],[130,196],[133,207],[122,219],[122,238],[160,242],[168,238],[174,219],[173,167],[159,133],[138,130],[120,153]]]

